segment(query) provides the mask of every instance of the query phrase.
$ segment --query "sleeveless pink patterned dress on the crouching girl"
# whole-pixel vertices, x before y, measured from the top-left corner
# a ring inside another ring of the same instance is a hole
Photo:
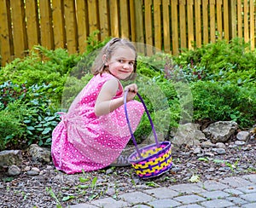
[[[73,101],[67,113],[52,134],[51,154],[57,170],[67,174],[102,169],[118,158],[131,138],[125,118],[124,105],[112,113],[96,117],[94,106],[102,85],[113,78],[103,73],[91,78],[90,82]],[[123,95],[119,84],[117,98]],[[131,128],[136,130],[144,108],[138,101],[127,102]]]

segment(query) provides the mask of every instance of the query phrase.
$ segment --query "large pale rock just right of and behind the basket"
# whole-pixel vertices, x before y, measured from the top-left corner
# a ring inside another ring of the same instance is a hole
[[[181,147],[183,144],[188,146],[198,146],[200,141],[206,140],[206,136],[201,132],[199,124],[181,124],[172,139],[172,144]]]

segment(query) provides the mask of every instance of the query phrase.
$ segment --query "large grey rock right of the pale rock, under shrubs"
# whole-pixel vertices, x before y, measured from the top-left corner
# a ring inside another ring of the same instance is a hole
[[[234,135],[238,129],[238,124],[234,121],[218,121],[210,124],[203,133],[207,138],[211,139],[213,143],[227,142],[230,136]]]

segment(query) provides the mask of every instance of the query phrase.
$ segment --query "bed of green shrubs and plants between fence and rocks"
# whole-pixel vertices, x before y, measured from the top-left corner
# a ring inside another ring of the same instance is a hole
[[[67,111],[90,80],[97,49],[109,39],[98,42],[94,35],[83,55],[35,46],[26,58],[1,67],[0,150],[31,143],[50,146],[51,132],[60,121],[57,112]],[[219,40],[175,57],[138,55],[137,84],[158,130],[168,138],[181,121],[234,120],[247,129],[256,118],[255,66],[255,51],[242,39]],[[143,89],[148,86],[157,86],[164,94],[162,100],[154,97],[156,93],[148,98]],[[156,100],[163,105],[154,109]],[[143,139],[150,131],[144,115],[136,138]]]

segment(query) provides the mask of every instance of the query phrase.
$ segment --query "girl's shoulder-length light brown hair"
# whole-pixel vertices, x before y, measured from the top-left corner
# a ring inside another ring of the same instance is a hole
[[[130,49],[132,49],[135,52],[135,63],[133,66],[133,72],[129,76],[129,78],[126,78],[125,80],[134,79],[136,77],[136,70],[137,70],[137,52],[134,47],[134,45],[125,39],[122,38],[112,38],[100,51],[100,54],[97,55],[96,60],[93,63],[93,66],[91,67],[91,72],[94,75],[101,74],[103,72],[109,72],[108,66],[106,66],[106,62],[111,58],[111,55],[113,55],[114,51],[118,49],[121,46],[127,46]],[[105,59],[103,59],[103,55],[106,56]]]

